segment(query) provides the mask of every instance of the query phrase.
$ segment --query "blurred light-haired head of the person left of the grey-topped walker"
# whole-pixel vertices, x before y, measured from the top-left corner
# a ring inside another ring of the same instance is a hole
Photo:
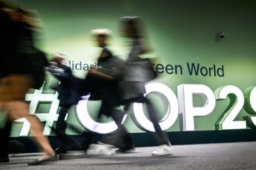
[[[111,35],[111,31],[109,29],[93,29],[92,36],[97,43],[97,46],[103,47],[106,46],[106,43]]]

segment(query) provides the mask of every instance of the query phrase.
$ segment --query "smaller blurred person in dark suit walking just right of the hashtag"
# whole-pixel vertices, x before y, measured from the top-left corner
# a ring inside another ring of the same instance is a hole
[[[57,155],[66,154],[67,150],[71,148],[81,147],[85,151],[88,148],[88,146],[85,146],[85,133],[81,135],[84,142],[82,146],[79,146],[77,141],[65,134],[67,129],[67,122],[65,121],[67,111],[81,100],[81,83],[83,82],[82,79],[73,75],[71,68],[65,63],[65,58],[64,54],[55,53],[54,59],[51,59],[50,66],[46,69],[59,80],[57,85],[54,86],[54,90],[58,92],[59,107],[61,109],[58,113],[56,126],[52,128],[60,141],[60,145],[55,149]]]

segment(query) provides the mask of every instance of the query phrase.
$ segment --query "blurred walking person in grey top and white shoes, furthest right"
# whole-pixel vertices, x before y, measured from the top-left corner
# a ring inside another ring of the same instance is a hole
[[[146,46],[144,22],[139,17],[123,17],[120,19],[120,29],[122,35],[131,40],[130,53],[126,59],[126,73],[120,84],[122,99],[125,102],[124,110],[127,112],[133,102],[145,104],[159,144],[159,148],[153,151],[152,155],[169,155],[171,144],[168,136],[161,130],[156,110],[150,100],[144,97],[145,83],[156,76],[149,60],[140,58],[150,52],[150,48]]]

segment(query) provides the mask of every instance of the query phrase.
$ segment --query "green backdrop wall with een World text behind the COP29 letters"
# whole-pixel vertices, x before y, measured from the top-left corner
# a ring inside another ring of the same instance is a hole
[[[92,29],[111,29],[111,49],[117,56],[126,59],[127,41],[120,36],[118,21],[122,16],[137,15],[147,24],[149,44],[154,49],[154,53],[149,56],[158,57],[154,66],[161,76],[154,82],[167,85],[177,97],[177,87],[181,84],[203,84],[213,92],[219,87],[234,85],[244,93],[244,97],[248,97],[246,89],[256,85],[254,1],[17,0],[16,3],[37,10],[43,22],[43,33],[40,35],[38,46],[49,54],[64,53],[76,76],[84,77],[87,73],[86,64],[94,64],[99,54],[99,49],[95,47],[90,35]],[[225,37],[216,39],[216,32],[220,31],[225,33]],[[202,73],[199,71],[196,75],[195,72],[190,72],[193,64],[203,67]],[[165,68],[168,65],[179,66],[179,69],[177,72],[171,72]],[[209,67],[216,67],[219,72],[212,70],[209,74]],[[54,77],[47,75],[43,90],[31,92],[27,96],[27,100],[34,101],[31,102],[33,113],[50,126],[54,124],[58,109],[57,94],[50,89],[55,83],[57,81]],[[53,100],[43,100],[43,95],[48,95]],[[156,95],[152,94],[150,97],[154,100],[160,117],[163,117],[167,107]],[[255,100],[251,100],[247,105],[251,108],[255,103]],[[193,104],[200,107],[200,97],[195,95]],[[195,117],[194,131],[217,130],[216,122],[229,104],[228,98],[216,100],[216,106],[210,114]],[[88,112],[92,117],[99,109],[97,106],[99,102],[88,102]],[[253,126],[249,126],[249,123],[253,115],[250,113],[254,114],[255,111],[248,110],[241,108],[234,121],[244,121],[244,117],[247,117],[249,121],[246,128],[251,129]],[[75,107],[68,111],[67,121],[83,128],[75,112]],[[175,123],[166,131],[183,131],[181,120],[182,114],[179,114]],[[125,124],[131,133],[144,133],[130,116],[126,118]],[[50,129],[47,129],[46,126],[45,134],[52,134]],[[26,121],[24,123],[24,120],[19,120],[14,124],[12,137],[28,134],[29,124]],[[67,134],[74,132],[67,129]]]

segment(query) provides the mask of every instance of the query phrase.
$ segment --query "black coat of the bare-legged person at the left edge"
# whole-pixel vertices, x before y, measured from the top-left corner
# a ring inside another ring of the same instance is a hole
[[[12,20],[0,10],[0,77],[9,74],[30,74],[33,88],[43,85],[45,54],[34,46],[33,26]]]

